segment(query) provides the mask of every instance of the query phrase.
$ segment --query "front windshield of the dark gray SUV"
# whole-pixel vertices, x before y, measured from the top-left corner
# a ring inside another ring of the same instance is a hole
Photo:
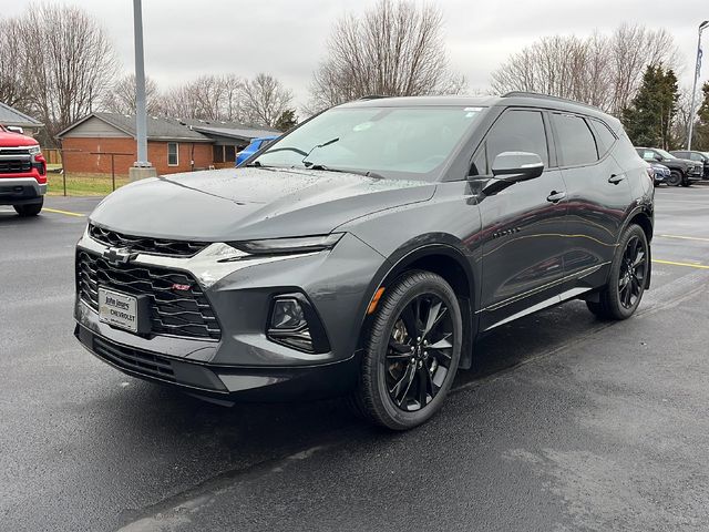
[[[335,108],[269,146],[251,164],[371,172],[434,181],[482,108]]]

